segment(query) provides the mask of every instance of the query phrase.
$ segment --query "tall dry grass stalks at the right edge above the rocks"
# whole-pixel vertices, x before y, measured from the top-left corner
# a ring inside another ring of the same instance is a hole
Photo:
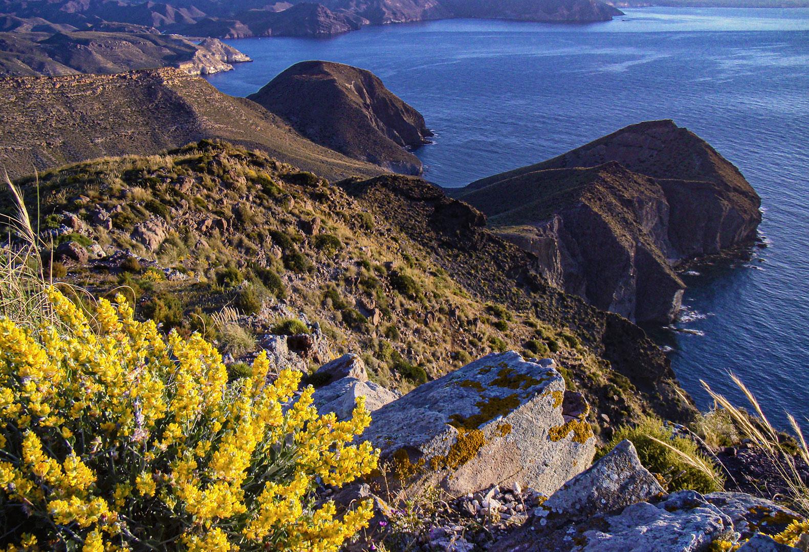
[[[794,432],[794,437],[798,441],[797,453],[790,453],[784,448],[779,433],[767,419],[756,397],[739,377],[733,373],[730,376],[731,380],[748,399],[758,420],[748,415],[747,411],[733,405],[722,394],[712,390],[705,381],[700,380],[700,383],[711,398],[714,399],[718,407],[723,408],[731,415],[741,436],[751,440],[754,445],[765,453],[767,461],[772,464],[774,470],[777,470],[777,474],[784,482],[784,487],[788,490],[788,496],[785,498],[790,502],[791,506],[803,515],[809,516],[809,485],[807,485],[807,480],[803,476],[803,467],[809,466],[809,449],[807,449],[807,441],[803,436],[803,430],[798,421],[789,412],[786,413],[790,427]]]

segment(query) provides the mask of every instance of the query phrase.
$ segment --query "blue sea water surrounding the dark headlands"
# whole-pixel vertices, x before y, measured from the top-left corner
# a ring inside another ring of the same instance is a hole
[[[462,186],[626,124],[674,119],[734,162],[762,197],[766,247],[695,268],[670,347],[701,407],[731,370],[765,411],[809,416],[809,9],[643,8],[608,23],[449,20],[329,40],[230,41],[255,61],[210,76],[248,95],[297,61],[373,71],[424,114],[426,178]],[[809,423],[806,423],[809,427]]]

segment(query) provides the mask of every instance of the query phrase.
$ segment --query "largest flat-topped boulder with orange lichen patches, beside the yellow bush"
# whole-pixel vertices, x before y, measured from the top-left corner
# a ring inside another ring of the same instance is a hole
[[[583,416],[565,422],[564,393],[555,369],[493,353],[380,408],[362,439],[406,491],[458,495],[517,482],[550,494],[595,453]]]

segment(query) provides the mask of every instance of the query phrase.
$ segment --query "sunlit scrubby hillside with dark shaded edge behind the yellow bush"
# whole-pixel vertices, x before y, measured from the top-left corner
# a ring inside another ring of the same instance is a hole
[[[557,359],[593,420],[692,412],[640,329],[546,284],[532,255],[421,179],[335,186],[201,142],[45,172],[40,198],[44,231],[57,236],[54,271],[66,266],[97,293],[129,286],[138,312],[184,332],[213,328],[205,317],[235,306],[255,338],[235,351],[232,332],[212,335],[237,360],[256,343],[271,348],[279,320],[302,318],[328,337],[325,360],[362,352],[372,379],[400,390],[512,348]],[[324,360],[319,343],[305,346],[304,365]]]

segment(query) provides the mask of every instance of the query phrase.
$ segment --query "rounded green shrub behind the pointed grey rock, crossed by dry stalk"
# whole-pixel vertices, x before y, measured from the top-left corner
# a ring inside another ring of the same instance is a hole
[[[663,420],[643,416],[635,426],[618,428],[604,453],[625,439],[635,445],[643,466],[663,477],[668,491],[693,489],[707,493],[722,490],[722,474],[714,462],[699,452],[693,440],[674,436]]]

